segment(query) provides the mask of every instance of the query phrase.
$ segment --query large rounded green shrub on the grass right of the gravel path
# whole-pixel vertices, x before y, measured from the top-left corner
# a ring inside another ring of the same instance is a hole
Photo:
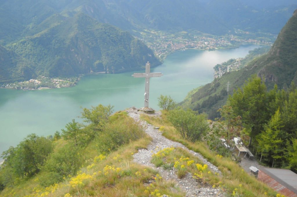
[[[168,120],[184,139],[192,142],[200,140],[209,131],[206,115],[198,114],[192,109],[187,111],[181,108],[173,109],[169,113]]]

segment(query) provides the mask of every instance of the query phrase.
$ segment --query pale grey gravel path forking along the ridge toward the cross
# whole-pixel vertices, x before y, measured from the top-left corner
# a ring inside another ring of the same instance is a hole
[[[130,108],[127,110],[130,117],[132,117],[135,121],[140,121],[140,114],[143,112],[138,112],[135,108]],[[159,116],[161,112],[157,112],[153,115]],[[138,153],[134,154],[134,162],[140,163],[145,166],[149,166],[151,168],[157,169],[160,172],[160,175],[167,180],[174,180],[178,187],[180,187],[186,193],[186,196],[205,196],[205,197],[213,197],[213,196],[224,196],[222,190],[218,188],[212,188],[211,186],[200,185],[195,179],[192,178],[192,175],[188,173],[184,178],[178,179],[175,169],[165,170],[161,167],[156,168],[153,163],[151,163],[151,157],[153,153],[157,153],[159,150],[162,150],[167,147],[181,147],[193,155],[200,158],[205,164],[208,165],[208,168],[213,171],[220,173],[219,169],[214,166],[212,163],[208,162],[202,155],[192,150],[189,150],[183,144],[178,142],[173,142],[164,136],[162,136],[162,132],[158,129],[155,129],[153,125],[148,124],[146,121],[141,120],[140,124],[145,128],[146,133],[153,138],[153,141],[147,149],[139,149]]]

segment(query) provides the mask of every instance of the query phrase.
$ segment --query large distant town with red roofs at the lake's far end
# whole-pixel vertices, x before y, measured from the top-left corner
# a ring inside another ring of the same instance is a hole
[[[149,32],[149,34],[148,34]],[[227,36],[212,36],[212,35],[200,35],[199,33],[189,33],[181,31],[175,34],[147,30],[141,32],[143,37],[141,39],[148,47],[154,51],[154,54],[161,61],[166,56],[174,51],[186,50],[186,49],[198,49],[198,50],[218,50],[226,48],[238,47],[242,44],[255,44],[262,46],[271,46],[272,42],[267,41],[269,39],[253,39],[234,36],[233,34]],[[249,32],[238,30],[237,33],[249,34]],[[271,35],[269,35],[271,37]]]

